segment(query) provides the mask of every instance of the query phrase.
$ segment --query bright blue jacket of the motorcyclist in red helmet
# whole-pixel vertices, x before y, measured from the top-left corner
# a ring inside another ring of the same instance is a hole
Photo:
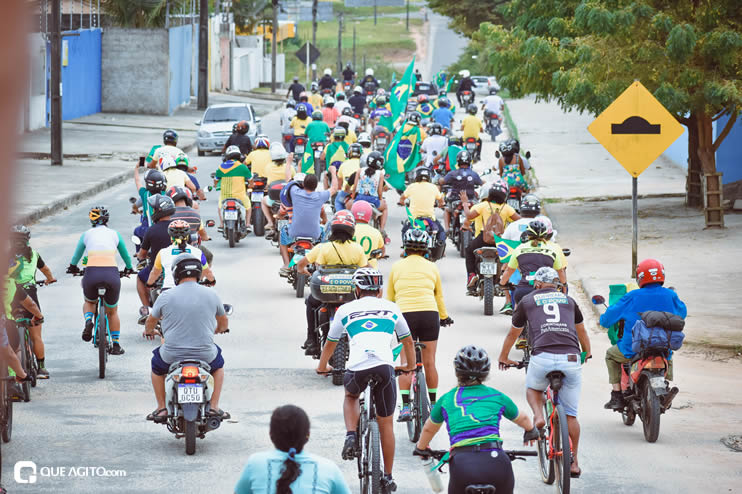
[[[671,312],[683,319],[688,313],[685,304],[674,291],[659,283],[651,283],[638,290],[630,291],[600,316],[600,325],[604,328],[623,319],[623,336],[618,340],[617,345],[626,358],[636,355],[631,350],[631,328],[641,318],[640,313],[648,310]]]

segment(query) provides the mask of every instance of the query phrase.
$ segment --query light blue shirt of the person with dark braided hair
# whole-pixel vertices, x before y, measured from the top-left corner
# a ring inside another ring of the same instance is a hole
[[[277,449],[251,455],[234,487],[235,494],[275,494],[286,458],[288,453]],[[301,465],[301,473],[291,483],[292,492],[350,494],[340,469],[330,460],[302,451],[296,454],[296,461]]]

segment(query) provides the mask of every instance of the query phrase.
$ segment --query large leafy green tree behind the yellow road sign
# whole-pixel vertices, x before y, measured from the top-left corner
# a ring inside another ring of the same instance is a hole
[[[596,115],[639,79],[688,128],[689,205],[703,194],[707,224],[723,221],[714,183],[701,191],[700,179],[716,172],[715,151],[742,108],[739,0],[511,0],[502,12],[512,27],[481,25],[468,56],[479,54],[515,97]]]

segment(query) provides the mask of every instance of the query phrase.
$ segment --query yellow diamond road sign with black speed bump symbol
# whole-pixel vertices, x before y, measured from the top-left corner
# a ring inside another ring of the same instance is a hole
[[[683,133],[683,126],[634,82],[587,130],[632,176],[638,177]]]

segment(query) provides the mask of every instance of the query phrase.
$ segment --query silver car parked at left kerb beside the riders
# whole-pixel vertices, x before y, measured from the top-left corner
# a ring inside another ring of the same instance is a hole
[[[196,133],[196,147],[198,155],[207,152],[221,152],[224,143],[232,135],[232,127],[239,121],[245,120],[250,128],[247,135],[255,142],[255,137],[262,133],[261,119],[255,116],[255,110],[248,103],[224,103],[212,105],[206,109]]]

